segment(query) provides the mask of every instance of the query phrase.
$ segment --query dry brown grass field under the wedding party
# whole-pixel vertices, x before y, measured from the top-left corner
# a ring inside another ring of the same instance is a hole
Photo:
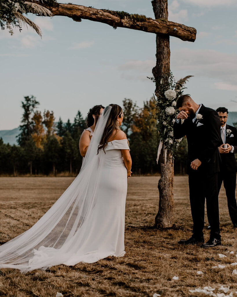
[[[1,177],[0,178],[0,241],[10,240],[30,228],[73,181],[72,177]],[[174,178],[174,222],[169,230],[152,228],[157,213],[157,176],[129,179],[125,250],[122,258],[107,258],[94,264],[55,266],[49,271],[20,274],[17,270],[1,269],[0,296],[204,296],[189,293],[194,287],[221,285],[237,291],[237,276],[232,276],[237,262],[236,236],[228,215],[224,189],[220,193],[222,246],[201,249],[183,247],[180,238],[191,235],[192,220],[188,200],[187,176]],[[207,222],[207,219],[206,219]],[[208,239],[209,232],[205,232]],[[234,251],[229,255],[227,251]],[[218,253],[227,255],[220,259]],[[218,264],[224,269],[212,269]],[[203,275],[196,275],[197,271]],[[178,276],[179,280],[173,280]],[[217,290],[215,290],[217,293]],[[219,292],[220,293],[220,292]],[[230,293],[230,291],[228,292]]]

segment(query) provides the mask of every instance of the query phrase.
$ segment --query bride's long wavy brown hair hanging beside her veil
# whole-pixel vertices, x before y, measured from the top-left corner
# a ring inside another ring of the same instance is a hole
[[[111,106],[112,108],[111,108],[107,123],[105,125],[104,133],[100,140],[100,144],[98,146],[98,152],[100,149],[103,149],[105,151],[105,146],[107,146],[108,140],[113,134],[114,130],[117,130],[117,131],[121,130],[119,126],[119,122],[117,121],[117,118],[118,116],[119,118],[121,118],[123,110],[121,106],[117,104],[110,104],[109,106]],[[107,110],[108,110],[108,107],[105,107],[104,114],[106,113]]]

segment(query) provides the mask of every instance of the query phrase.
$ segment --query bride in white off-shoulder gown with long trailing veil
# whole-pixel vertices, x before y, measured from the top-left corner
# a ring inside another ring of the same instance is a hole
[[[0,267],[21,272],[122,257],[132,160],[122,108],[100,116],[79,175],[35,225],[0,247]]]

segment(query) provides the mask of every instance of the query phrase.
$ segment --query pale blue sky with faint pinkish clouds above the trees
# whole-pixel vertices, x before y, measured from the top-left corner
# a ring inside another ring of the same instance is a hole
[[[60,2],[60,1],[59,1]],[[153,16],[144,0],[74,0],[74,4]],[[171,37],[171,70],[177,79],[195,75],[187,93],[197,103],[237,110],[237,0],[169,0],[169,20],[197,29],[197,39]],[[95,104],[121,104],[131,98],[142,106],[154,92],[146,78],[155,65],[155,34],[70,18],[28,15],[42,39],[23,27],[10,36],[0,30],[0,130],[18,127],[21,100],[33,94],[39,110],[63,121],[84,116]]]

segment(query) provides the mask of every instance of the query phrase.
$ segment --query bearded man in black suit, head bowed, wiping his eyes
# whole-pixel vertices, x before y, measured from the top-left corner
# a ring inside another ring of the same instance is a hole
[[[221,244],[218,207],[217,173],[220,171],[218,147],[222,144],[220,119],[217,112],[196,104],[188,95],[177,100],[180,113],[174,122],[174,138],[186,135],[188,140],[187,173],[193,235],[179,244],[203,243],[204,206],[206,198],[207,217],[212,226],[209,241],[204,248]]]

